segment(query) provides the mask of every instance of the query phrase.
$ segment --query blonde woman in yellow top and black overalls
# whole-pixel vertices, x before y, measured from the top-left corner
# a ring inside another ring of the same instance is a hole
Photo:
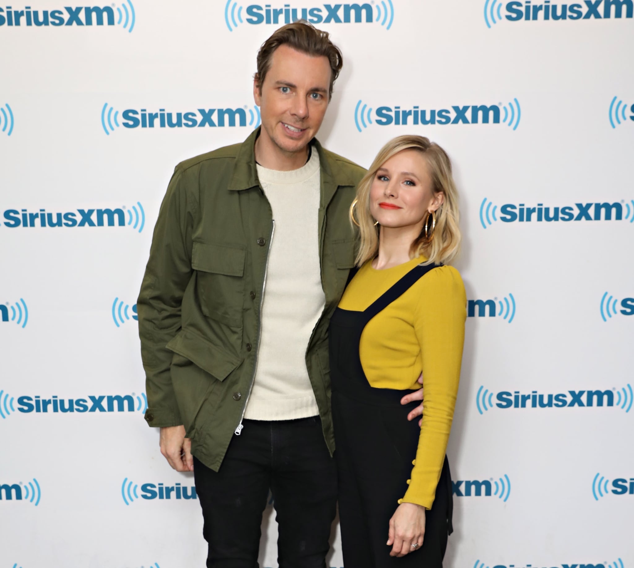
[[[380,150],[351,207],[359,269],[330,323],[346,568],[443,563],[452,530],[445,451],[467,303],[460,274],[443,266],[460,247],[456,200],[444,150],[399,136]],[[421,372],[419,429],[404,420],[417,403],[404,409],[400,400]]]

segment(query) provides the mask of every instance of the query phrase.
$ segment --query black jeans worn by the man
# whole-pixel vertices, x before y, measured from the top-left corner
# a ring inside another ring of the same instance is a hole
[[[245,420],[218,472],[194,458],[209,543],[207,568],[257,568],[269,489],[280,568],[325,568],[337,503],[337,471],[318,416]]]

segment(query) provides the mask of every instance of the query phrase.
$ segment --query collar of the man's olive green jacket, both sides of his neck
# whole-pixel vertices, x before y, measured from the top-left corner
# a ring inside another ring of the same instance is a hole
[[[249,137],[240,145],[240,150],[236,155],[233,164],[233,173],[229,181],[228,189],[230,191],[248,190],[259,186],[256,169],[256,139],[260,134],[260,129],[249,134]],[[349,169],[342,167],[337,160],[333,158],[332,153],[324,150],[318,139],[311,140],[313,150],[319,153],[320,169],[321,169],[321,187],[324,190],[323,195],[325,203],[330,202],[338,186],[356,185],[356,179]]]

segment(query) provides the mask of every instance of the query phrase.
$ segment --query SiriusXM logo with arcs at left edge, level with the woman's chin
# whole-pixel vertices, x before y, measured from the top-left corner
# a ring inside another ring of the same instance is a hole
[[[27,209],[7,209],[4,211],[4,226],[16,227],[124,227],[126,226],[126,206],[115,209],[77,209],[66,213],[48,213],[40,209],[37,213]],[[140,202],[127,209],[127,225],[143,231],[145,211]]]

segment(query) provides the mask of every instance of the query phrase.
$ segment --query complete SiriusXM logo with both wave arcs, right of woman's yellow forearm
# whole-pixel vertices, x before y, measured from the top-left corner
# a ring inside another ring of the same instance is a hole
[[[629,412],[634,401],[634,393],[629,383],[620,390],[569,390],[558,394],[538,394],[536,390],[531,391],[530,394],[521,394],[519,390],[515,392],[502,390],[496,394],[495,399],[498,402],[495,404],[493,394],[492,390],[489,391],[483,386],[478,389],[475,395],[475,406],[480,414],[494,406],[497,408],[571,408],[574,406],[593,408],[595,404],[604,406],[604,403],[605,406],[615,406]],[[614,404],[615,398],[616,404]]]

